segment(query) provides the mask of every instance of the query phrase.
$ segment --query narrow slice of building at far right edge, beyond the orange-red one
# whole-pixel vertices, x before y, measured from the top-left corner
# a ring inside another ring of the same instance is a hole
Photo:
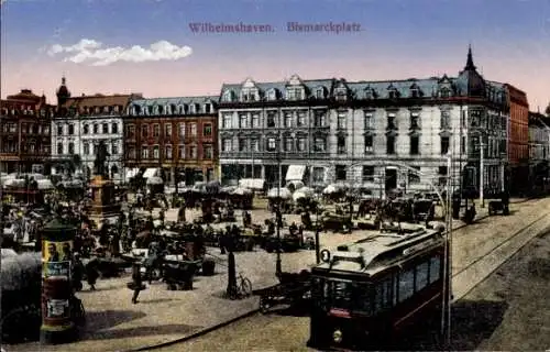
[[[548,188],[550,185],[550,119],[539,112],[529,112],[529,185]]]

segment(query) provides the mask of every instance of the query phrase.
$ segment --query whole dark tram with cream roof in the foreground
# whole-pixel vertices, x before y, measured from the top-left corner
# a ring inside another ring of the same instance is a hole
[[[361,350],[391,341],[427,315],[441,319],[449,297],[446,241],[444,230],[419,227],[321,251],[311,271],[308,345]]]

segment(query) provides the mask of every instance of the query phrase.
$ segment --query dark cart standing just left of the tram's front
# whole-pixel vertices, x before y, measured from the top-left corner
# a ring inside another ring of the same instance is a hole
[[[297,305],[310,298],[310,273],[283,273],[279,276],[279,284],[258,289],[255,295],[260,296],[260,310],[266,314],[278,305]]]

